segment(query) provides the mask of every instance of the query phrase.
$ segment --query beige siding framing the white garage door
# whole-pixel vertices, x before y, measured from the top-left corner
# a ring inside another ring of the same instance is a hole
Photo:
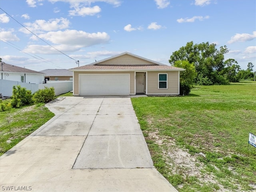
[[[130,94],[134,92],[134,71],[132,72],[74,72],[74,95],[79,95],[79,74],[130,74]]]

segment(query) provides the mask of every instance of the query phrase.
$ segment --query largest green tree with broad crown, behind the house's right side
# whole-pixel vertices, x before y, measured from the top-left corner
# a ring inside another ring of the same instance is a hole
[[[170,56],[170,64],[174,66],[176,61],[187,60],[194,64],[198,78],[196,82],[207,82],[207,84],[225,84],[227,80],[220,75],[224,69],[224,54],[228,52],[226,46],[216,48],[216,44],[202,42],[194,44],[188,42]],[[205,80],[205,81],[204,81]],[[204,84],[204,83],[202,83]]]

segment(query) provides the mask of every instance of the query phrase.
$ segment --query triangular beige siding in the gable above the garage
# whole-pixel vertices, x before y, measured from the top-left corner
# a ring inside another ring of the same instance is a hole
[[[155,63],[140,58],[136,58],[130,55],[122,55],[117,58],[100,62],[99,65],[155,65]]]

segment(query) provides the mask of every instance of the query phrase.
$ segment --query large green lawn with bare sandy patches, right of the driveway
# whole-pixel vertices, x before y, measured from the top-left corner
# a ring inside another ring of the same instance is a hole
[[[188,96],[132,104],[154,165],[180,192],[253,190],[256,148],[248,135],[256,134],[256,82],[197,86]]]

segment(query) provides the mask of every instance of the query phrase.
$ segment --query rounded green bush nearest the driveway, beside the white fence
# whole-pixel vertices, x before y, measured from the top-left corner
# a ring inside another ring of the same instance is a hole
[[[47,103],[49,101],[54,100],[54,97],[55,97],[54,88],[44,87],[44,89],[39,89],[36,92],[34,92],[32,100],[35,104]]]

